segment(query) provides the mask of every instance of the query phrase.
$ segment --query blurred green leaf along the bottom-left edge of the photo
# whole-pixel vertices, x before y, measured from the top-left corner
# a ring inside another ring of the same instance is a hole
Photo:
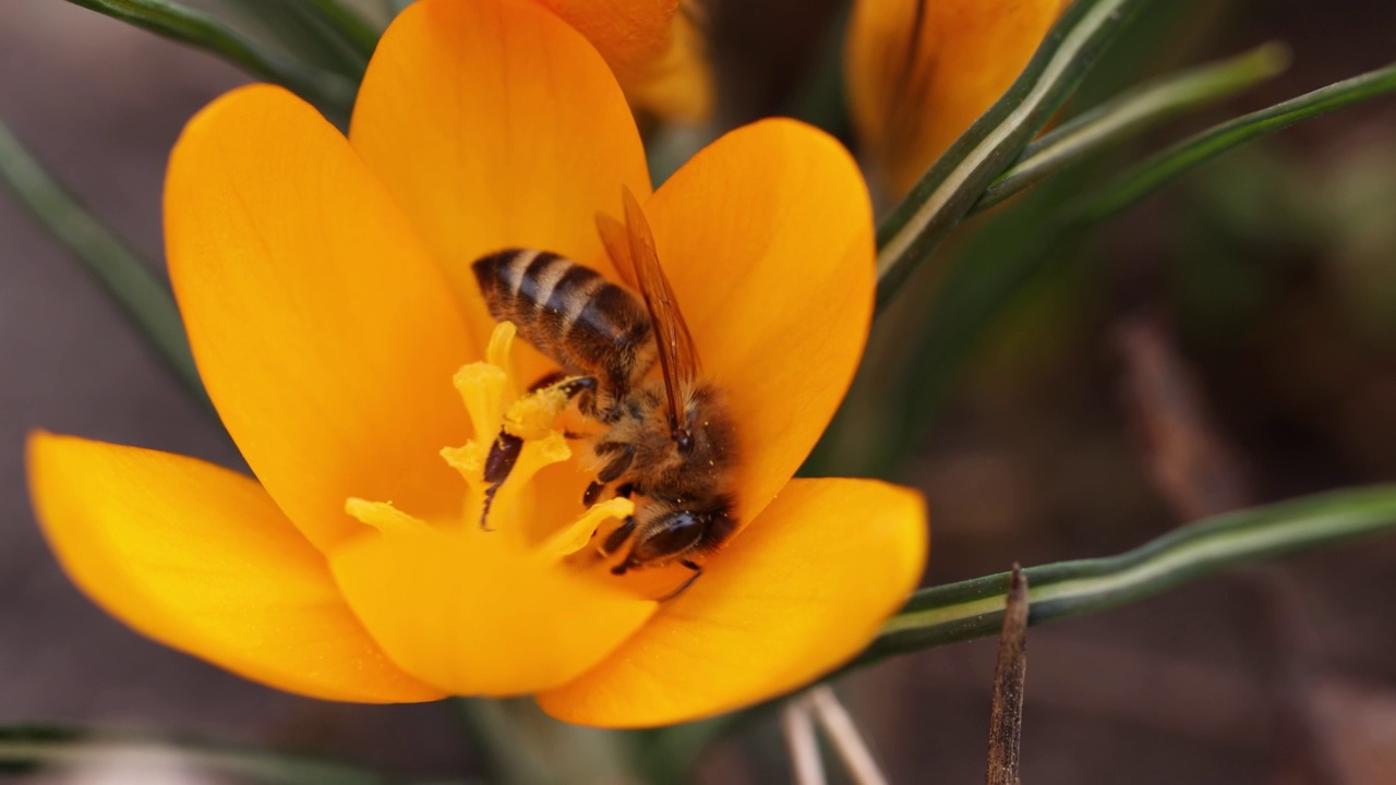
[[[177,756],[207,774],[262,785],[385,785],[388,779],[342,763],[257,747],[64,725],[0,725],[0,772],[103,765],[112,756]]]

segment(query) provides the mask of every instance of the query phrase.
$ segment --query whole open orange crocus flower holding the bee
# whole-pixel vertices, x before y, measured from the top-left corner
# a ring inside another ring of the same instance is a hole
[[[745,455],[748,525],[667,602],[652,598],[681,567],[616,577],[586,548],[628,503],[584,508],[592,475],[549,427],[494,499],[494,531],[479,525],[480,451],[550,363],[510,348],[470,263],[533,247],[614,275],[595,217],[623,215],[623,187]],[[872,309],[867,191],[814,129],[738,129],[652,193],[581,35],[521,0],[420,0],[384,35],[348,140],[274,87],[204,109],[172,155],[165,221],[200,373],[257,479],[29,443],[59,560],[158,641],[320,698],[532,693],[563,719],[645,726],[833,669],[921,574],[917,493],[790,479]]]

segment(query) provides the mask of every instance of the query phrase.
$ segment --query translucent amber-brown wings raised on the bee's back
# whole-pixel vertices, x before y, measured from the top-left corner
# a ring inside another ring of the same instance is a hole
[[[698,379],[698,351],[694,348],[688,324],[678,311],[678,298],[674,296],[669,278],[659,265],[655,235],[649,230],[645,212],[630,189],[624,189],[621,196],[625,203],[624,226],[609,215],[597,215],[596,225],[616,267],[623,277],[634,282],[645,299],[655,330],[655,344],[659,346],[659,367],[664,374],[669,422],[677,429],[683,422],[684,401]]]

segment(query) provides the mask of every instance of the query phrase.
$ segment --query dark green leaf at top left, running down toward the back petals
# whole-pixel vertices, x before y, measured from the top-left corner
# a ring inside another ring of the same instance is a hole
[[[279,84],[343,123],[353,106],[353,80],[299,63],[225,22],[168,0],[68,0],[166,38],[205,49],[251,75]]]

